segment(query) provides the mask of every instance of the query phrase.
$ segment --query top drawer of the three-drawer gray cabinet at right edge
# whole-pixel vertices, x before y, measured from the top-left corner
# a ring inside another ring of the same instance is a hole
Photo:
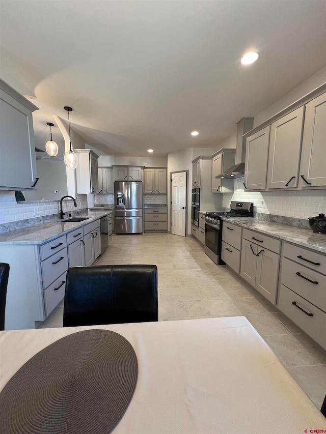
[[[292,259],[292,261],[302,264],[305,267],[326,274],[326,256],[317,252],[312,252],[303,247],[293,246],[293,244],[284,243],[283,256]]]

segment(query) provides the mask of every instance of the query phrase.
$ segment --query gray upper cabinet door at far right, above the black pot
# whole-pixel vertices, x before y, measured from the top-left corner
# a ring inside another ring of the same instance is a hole
[[[306,105],[299,175],[301,187],[326,185],[326,93]]]

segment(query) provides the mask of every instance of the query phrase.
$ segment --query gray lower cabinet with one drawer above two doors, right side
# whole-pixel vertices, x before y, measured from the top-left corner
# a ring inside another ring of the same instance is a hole
[[[280,249],[279,240],[243,229],[240,276],[273,304],[276,303]]]

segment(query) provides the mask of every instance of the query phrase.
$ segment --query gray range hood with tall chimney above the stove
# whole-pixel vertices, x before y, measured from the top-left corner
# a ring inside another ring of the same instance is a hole
[[[244,175],[244,160],[246,158],[246,139],[243,139],[243,134],[253,129],[254,118],[242,118],[237,123],[236,134],[236,149],[235,149],[235,164],[229,167],[222,173],[219,173],[215,178],[239,178]]]

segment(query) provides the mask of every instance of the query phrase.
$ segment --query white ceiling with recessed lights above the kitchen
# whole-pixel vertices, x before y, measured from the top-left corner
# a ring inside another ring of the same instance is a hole
[[[0,0],[0,75],[36,97],[39,139],[70,105],[99,155],[164,156],[218,146],[324,66],[325,29],[325,0]]]

